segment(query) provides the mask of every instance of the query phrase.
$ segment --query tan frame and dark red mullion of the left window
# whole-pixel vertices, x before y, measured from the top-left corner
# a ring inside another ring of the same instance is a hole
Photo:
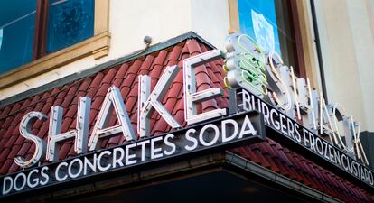
[[[74,60],[93,56],[95,60],[108,56],[110,47],[109,0],[94,0],[94,34],[60,51],[46,53],[48,0],[37,0],[33,61],[0,74],[0,89],[8,88],[28,78],[60,68]]]

